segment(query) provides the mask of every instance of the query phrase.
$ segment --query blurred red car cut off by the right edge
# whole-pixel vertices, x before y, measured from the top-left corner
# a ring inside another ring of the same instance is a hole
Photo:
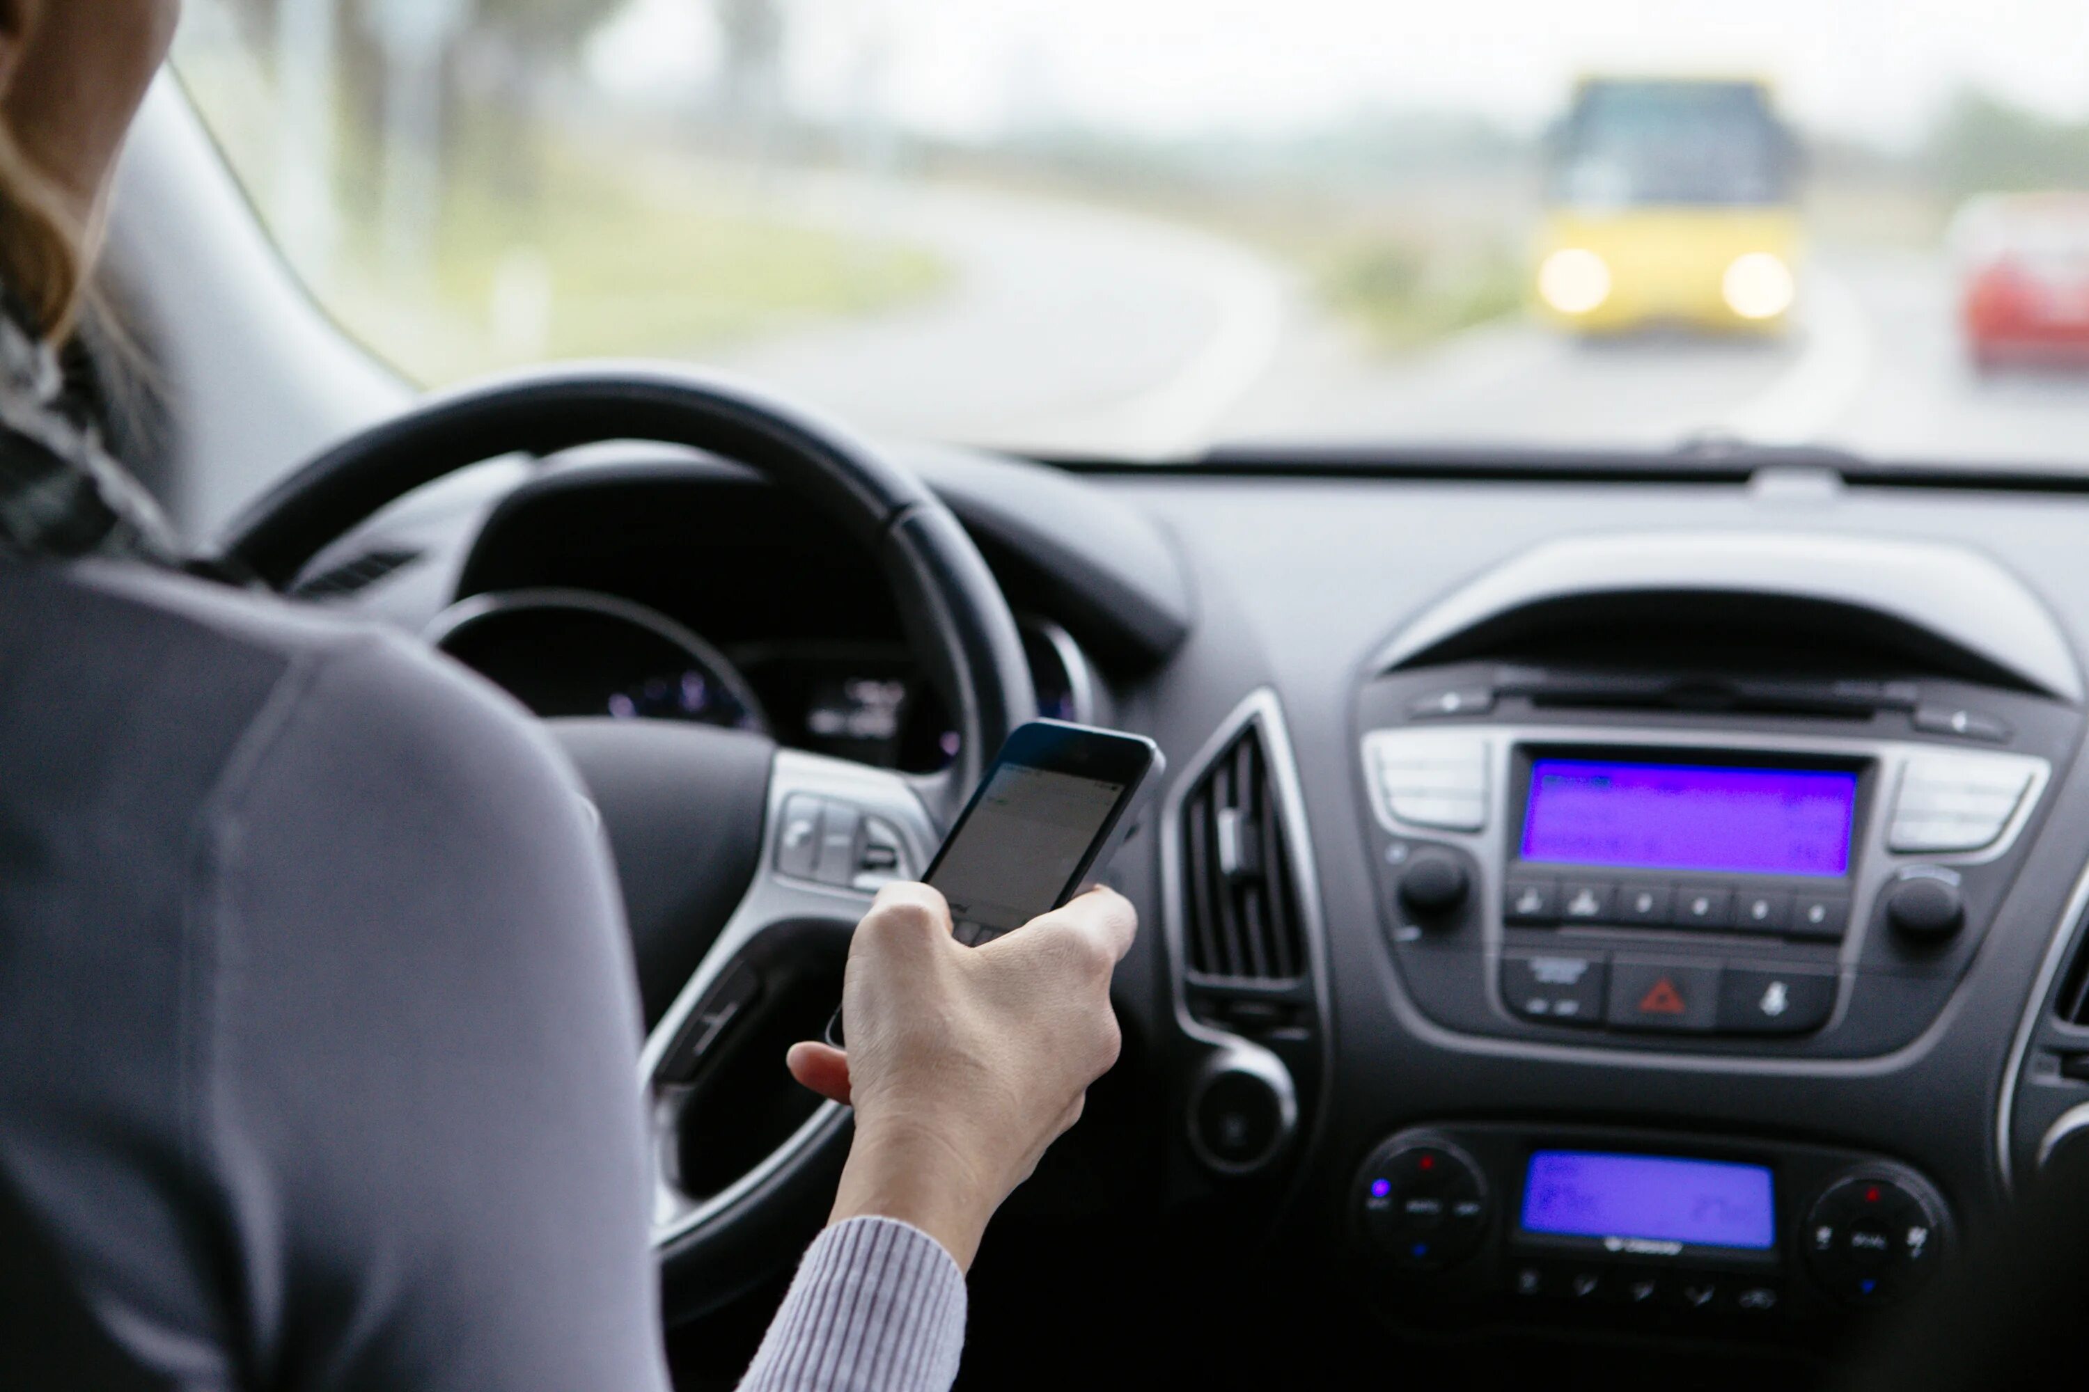
[[[1959,213],[1953,244],[1974,365],[2089,367],[2089,194],[1976,198]]]

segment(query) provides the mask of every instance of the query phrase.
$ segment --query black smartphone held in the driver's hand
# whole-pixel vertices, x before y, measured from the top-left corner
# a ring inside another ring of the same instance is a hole
[[[921,877],[950,904],[957,941],[990,943],[1086,889],[1166,766],[1124,730],[1032,720],[1009,735]],[[827,1043],[842,1043],[840,1010]]]

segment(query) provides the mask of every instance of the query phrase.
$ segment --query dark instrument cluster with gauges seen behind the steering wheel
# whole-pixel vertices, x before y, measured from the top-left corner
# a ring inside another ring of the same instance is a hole
[[[537,716],[687,720],[877,768],[948,764],[957,733],[869,559],[817,520],[798,534],[769,490],[708,482],[646,488],[648,530],[673,532],[677,555],[641,559],[637,574],[646,538],[604,549],[570,518],[597,497],[574,501],[562,484],[526,495],[478,536],[474,591],[422,637]],[[1040,712],[1099,720],[1105,687],[1080,643],[1040,614],[1019,614],[1017,628]]]

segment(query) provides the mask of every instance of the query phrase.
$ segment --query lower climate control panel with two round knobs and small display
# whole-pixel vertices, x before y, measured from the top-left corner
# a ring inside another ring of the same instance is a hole
[[[1755,1321],[1893,1304],[1951,1215],[1882,1156],[1703,1135],[1446,1123],[1377,1146],[1358,1246],[1408,1294]]]

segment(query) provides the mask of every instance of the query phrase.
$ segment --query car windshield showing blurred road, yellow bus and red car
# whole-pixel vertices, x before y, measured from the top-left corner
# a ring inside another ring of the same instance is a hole
[[[2089,465],[2089,6],[190,0],[290,265],[424,384],[892,438]]]

